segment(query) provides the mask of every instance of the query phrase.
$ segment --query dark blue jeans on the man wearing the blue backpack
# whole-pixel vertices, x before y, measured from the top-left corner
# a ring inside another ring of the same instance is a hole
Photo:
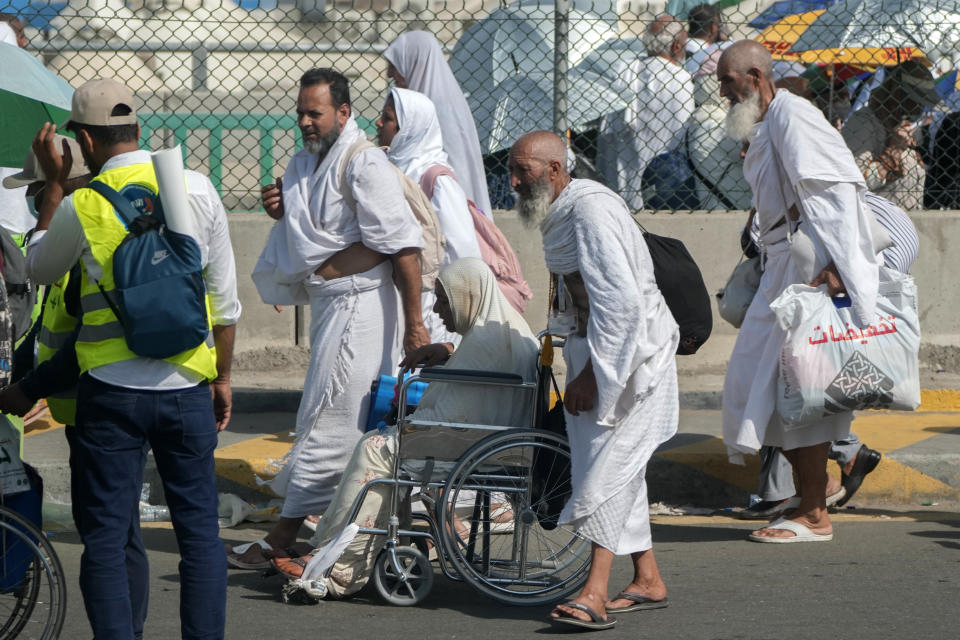
[[[183,638],[223,638],[227,566],[217,524],[210,389],[144,391],[80,379],[77,426],[68,432],[80,590],[97,640],[143,636],[149,566],[139,500],[153,449],[180,548]]]

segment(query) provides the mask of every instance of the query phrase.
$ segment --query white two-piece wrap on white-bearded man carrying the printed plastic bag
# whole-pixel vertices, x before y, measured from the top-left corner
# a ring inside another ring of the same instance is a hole
[[[873,316],[879,282],[863,176],[840,134],[816,107],[778,91],[754,128],[743,172],[753,189],[766,264],[723,387],[723,439],[730,461],[737,464],[743,463],[744,453],[762,445],[791,450],[846,437],[853,419],[851,413],[838,414],[788,429],[776,413],[785,336],[769,304],[789,285],[810,277],[800,273],[791,253],[788,225],[773,228],[789,205],[797,204],[801,228],[813,245],[813,272],[831,260],[836,264],[854,315],[863,324]]]

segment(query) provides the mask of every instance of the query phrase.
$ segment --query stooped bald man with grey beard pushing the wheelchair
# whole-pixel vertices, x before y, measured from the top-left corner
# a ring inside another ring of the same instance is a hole
[[[593,552],[583,590],[550,621],[607,629],[616,623],[607,614],[667,606],[644,476],[654,450],[677,431],[679,328],[626,203],[597,182],[571,180],[558,136],[524,135],[509,168],[520,217],[539,226],[554,290],[569,291],[575,310],[563,349],[573,494],[559,521],[593,542]],[[608,601],[613,557],[625,554],[633,581]]]

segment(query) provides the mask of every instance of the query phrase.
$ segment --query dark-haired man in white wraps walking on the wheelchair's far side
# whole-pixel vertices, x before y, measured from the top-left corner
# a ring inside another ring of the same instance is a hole
[[[304,148],[283,180],[262,190],[278,222],[253,279],[268,304],[310,305],[310,367],[293,447],[269,482],[284,496],[280,521],[265,538],[228,549],[238,569],[269,567],[269,552],[288,548],[303,520],[326,510],[363,435],[370,383],[396,374],[401,345],[411,352],[430,342],[420,308],[423,232],[396,170],[357,126],[343,74],[303,74],[297,126]]]

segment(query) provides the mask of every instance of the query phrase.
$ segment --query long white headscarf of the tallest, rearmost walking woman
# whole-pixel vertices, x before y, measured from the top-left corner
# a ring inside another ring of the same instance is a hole
[[[383,57],[403,76],[408,89],[419,91],[433,101],[450,166],[467,197],[490,216],[490,196],[477,126],[440,43],[426,31],[410,31],[394,40]]]

